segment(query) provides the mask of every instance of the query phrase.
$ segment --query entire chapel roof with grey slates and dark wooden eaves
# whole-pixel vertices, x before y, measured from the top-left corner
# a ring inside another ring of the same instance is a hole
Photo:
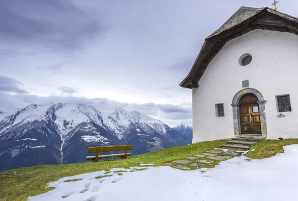
[[[192,69],[180,86],[189,89],[198,88],[198,82],[206,68],[225,43],[255,29],[298,35],[298,17],[268,7],[241,7],[218,30],[205,39]]]

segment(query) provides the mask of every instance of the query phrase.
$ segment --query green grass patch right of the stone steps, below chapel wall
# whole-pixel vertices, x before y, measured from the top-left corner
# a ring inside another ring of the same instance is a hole
[[[263,140],[257,142],[250,147],[250,150],[245,156],[251,159],[263,159],[275,156],[277,153],[284,153],[284,146],[298,144],[298,139],[285,140]]]

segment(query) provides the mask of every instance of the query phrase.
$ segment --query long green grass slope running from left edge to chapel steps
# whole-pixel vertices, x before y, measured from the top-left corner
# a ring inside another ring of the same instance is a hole
[[[172,147],[161,151],[128,157],[126,160],[99,161],[98,163],[73,163],[66,165],[45,165],[31,168],[19,168],[0,173],[0,201],[26,201],[29,196],[36,196],[53,188],[47,183],[60,178],[111,168],[141,167],[140,162],[161,166],[162,163],[187,156],[203,153],[213,147],[225,144],[224,140],[202,142],[182,147]],[[87,150],[86,150],[87,153]]]

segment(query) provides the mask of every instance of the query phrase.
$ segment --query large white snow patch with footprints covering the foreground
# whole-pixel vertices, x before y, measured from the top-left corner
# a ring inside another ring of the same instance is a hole
[[[100,179],[95,177],[104,171],[66,177],[49,184],[56,189],[28,201],[297,201],[298,145],[284,148],[285,153],[271,158],[235,157],[213,169],[162,166],[112,169],[106,174],[111,177]],[[114,173],[119,170],[126,172]],[[81,180],[64,182],[74,179]]]

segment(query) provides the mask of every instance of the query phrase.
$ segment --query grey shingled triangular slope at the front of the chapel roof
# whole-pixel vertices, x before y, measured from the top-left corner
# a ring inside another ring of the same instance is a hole
[[[266,9],[266,7],[263,7],[263,8],[252,8],[252,7],[244,7],[244,6],[240,7],[240,9],[237,10],[226,22],[224,22],[224,24],[218,30],[216,30],[207,38],[216,36],[222,33],[223,31],[240,24],[241,22],[254,16],[255,14],[258,14],[264,9]]]

